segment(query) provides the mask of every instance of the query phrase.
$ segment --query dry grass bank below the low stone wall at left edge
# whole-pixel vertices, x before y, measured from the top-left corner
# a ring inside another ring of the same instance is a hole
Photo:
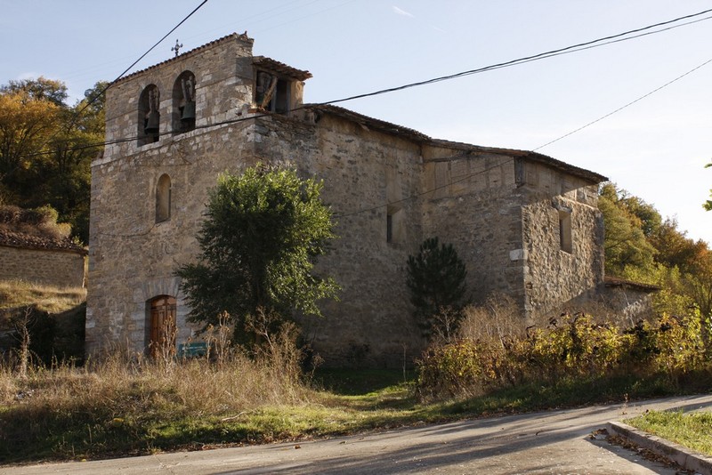
[[[37,310],[61,313],[86,301],[82,287],[57,287],[21,280],[0,280],[0,309],[36,305]]]

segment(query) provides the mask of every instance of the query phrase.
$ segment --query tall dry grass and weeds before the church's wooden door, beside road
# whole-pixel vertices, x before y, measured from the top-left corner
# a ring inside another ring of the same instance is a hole
[[[117,351],[84,367],[31,367],[23,376],[6,361],[0,463],[283,436],[249,429],[250,417],[267,407],[309,404],[316,392],[303,382],[300,361],[301,351],[287,340],[255,355],[233,350],[219,365]]]

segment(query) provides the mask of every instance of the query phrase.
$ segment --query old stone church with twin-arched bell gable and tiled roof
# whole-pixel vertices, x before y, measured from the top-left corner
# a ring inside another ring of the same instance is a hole
[[[536,318],[603,284],[605,177],[539,153],[433,139],[348,109],[303,104],[312,75],[253,56],[233,34],[109,88],[92,164],[86,349],[146,351],[175,321],[194,336],[174,270],[218,173],[290,164],[325,183],[336,214],[319,270],[343,287],[303,336],[333,366],[398,366],[423,348],[405,285],[425,238],[451,243],[473,300],[508,294]]]

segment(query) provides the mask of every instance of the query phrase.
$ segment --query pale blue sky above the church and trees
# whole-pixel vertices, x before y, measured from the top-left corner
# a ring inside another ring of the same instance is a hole
[[[78,98],[200,0],[0,0],[0,83],[46,76]],[[685,0],[208,0],[136,68],[247,30],[331,101],[481,68],[691,13]],[[436,138],[538,149],[615,181],[712,243],[712,14],[630,41],[340,105]],[[700,67],[701,66],[701,67]],[[698,68],[700,67],[700,68]],[[693,70],[694,68],[698,68]],[[666,85],[594,125],[539,149]]]

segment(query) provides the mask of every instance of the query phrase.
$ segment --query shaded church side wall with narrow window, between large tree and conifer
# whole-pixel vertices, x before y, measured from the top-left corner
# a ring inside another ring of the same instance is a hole
[[[420,147],[335,116],[321,117],[314,133],[299,166],[324,180],[339,238],[319,270],[336,277],[342,292],[339,302],[324,302],[325,318],[305,320],[304,328],[331,365],[400,367],[423,348],[404,272],[422,240],[421,203],[409,199],[420,186]],[[390,242],[389,213],[398,217]]]

